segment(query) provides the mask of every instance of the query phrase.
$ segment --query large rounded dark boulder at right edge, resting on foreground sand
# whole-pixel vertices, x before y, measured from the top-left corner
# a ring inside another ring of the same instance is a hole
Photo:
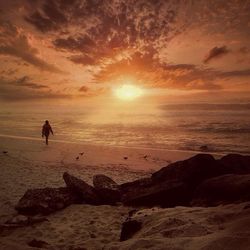
[[[217,206],[250,201],[250,175],[222,175],[201,183],[194,194],[193,206]]]

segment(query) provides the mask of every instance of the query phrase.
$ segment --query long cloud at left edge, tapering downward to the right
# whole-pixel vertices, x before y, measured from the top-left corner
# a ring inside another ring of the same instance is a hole
[[[30,44],[28,36],[22,30],[11,23],[3,23],[0,28],[3,32],[0,40],[0,54],[20,58],[44,71],[63,73],[56,66],[38,57],[38,49]]]

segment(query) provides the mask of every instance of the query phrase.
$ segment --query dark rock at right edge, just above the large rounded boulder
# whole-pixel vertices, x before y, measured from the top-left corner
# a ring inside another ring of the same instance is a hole
[[[225,174],[250,174],[250,156],[228,154],[218,160]]]

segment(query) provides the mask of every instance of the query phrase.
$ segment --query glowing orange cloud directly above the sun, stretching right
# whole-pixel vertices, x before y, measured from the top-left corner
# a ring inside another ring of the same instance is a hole
[[[131,57],[104,66],[95,76],[95,83],[118,83],[134,78],[137,84],[148,87],[212,90],[221,89],[214,81],[218,71],[194,64],[166,64],[155,57],[154,50],[148,53],[134,53]]]

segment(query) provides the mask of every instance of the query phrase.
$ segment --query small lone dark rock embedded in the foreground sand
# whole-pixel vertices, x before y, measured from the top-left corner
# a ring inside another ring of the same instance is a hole
[[[142,228],[142,223],[136,220],[125,221],[122,224],[120,241],[132,238]]]

